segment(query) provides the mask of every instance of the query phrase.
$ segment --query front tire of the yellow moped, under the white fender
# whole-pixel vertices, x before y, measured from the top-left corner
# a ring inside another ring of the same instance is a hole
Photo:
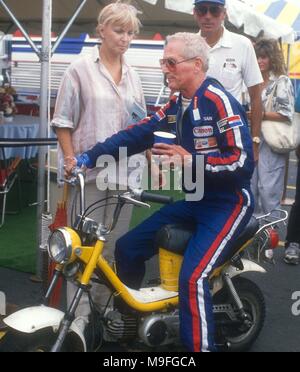
[[[9,329],[0,341],[0,352],[47,353],[51,351],[57,339],[52,328],[43,329],[33,334],[21,333]],[[79,352],[82,345],[74,333],[66,338],[61,352]]]

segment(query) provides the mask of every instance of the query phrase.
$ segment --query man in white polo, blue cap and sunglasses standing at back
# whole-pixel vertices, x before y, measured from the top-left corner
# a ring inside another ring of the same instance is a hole
[[[244,87],[248,88],[252,112],[251,132],[257,161],[263,112],[263,79],[250,40],[224,27],[225,5],[225,0],[196,0],[194,17],[201,36],[211,47],[208,75],[220,81],[240,103],[243,103]]]

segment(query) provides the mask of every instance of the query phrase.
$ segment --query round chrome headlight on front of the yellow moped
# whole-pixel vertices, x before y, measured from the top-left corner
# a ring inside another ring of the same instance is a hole
[[[57,264],[65,264],[72,256],[72,238],[65,229],[55,230],[49,238],[49,256]]]

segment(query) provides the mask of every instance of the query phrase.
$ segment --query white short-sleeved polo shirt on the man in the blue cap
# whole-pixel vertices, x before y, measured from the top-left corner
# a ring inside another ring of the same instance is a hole
[[[263,82],[251,41],[225,28],[221,39],[210,50],[207,75],[219,80],[240,103],[243,103],[244,85],[250,88]]]

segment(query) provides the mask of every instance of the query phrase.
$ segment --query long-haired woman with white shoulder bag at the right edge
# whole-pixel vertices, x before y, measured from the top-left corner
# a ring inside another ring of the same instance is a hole
[[[291,121],[294,115],[294,90],[286,74],[283,54],[276,40],[261,39],[255,44],[263,75],[263,120]],[[270,96],[273,95],[271,109]],[[274,152],[261,139],[259,161],[252,179],[256,212],[267,214],[280,207],[284,189],[286,155]]]

